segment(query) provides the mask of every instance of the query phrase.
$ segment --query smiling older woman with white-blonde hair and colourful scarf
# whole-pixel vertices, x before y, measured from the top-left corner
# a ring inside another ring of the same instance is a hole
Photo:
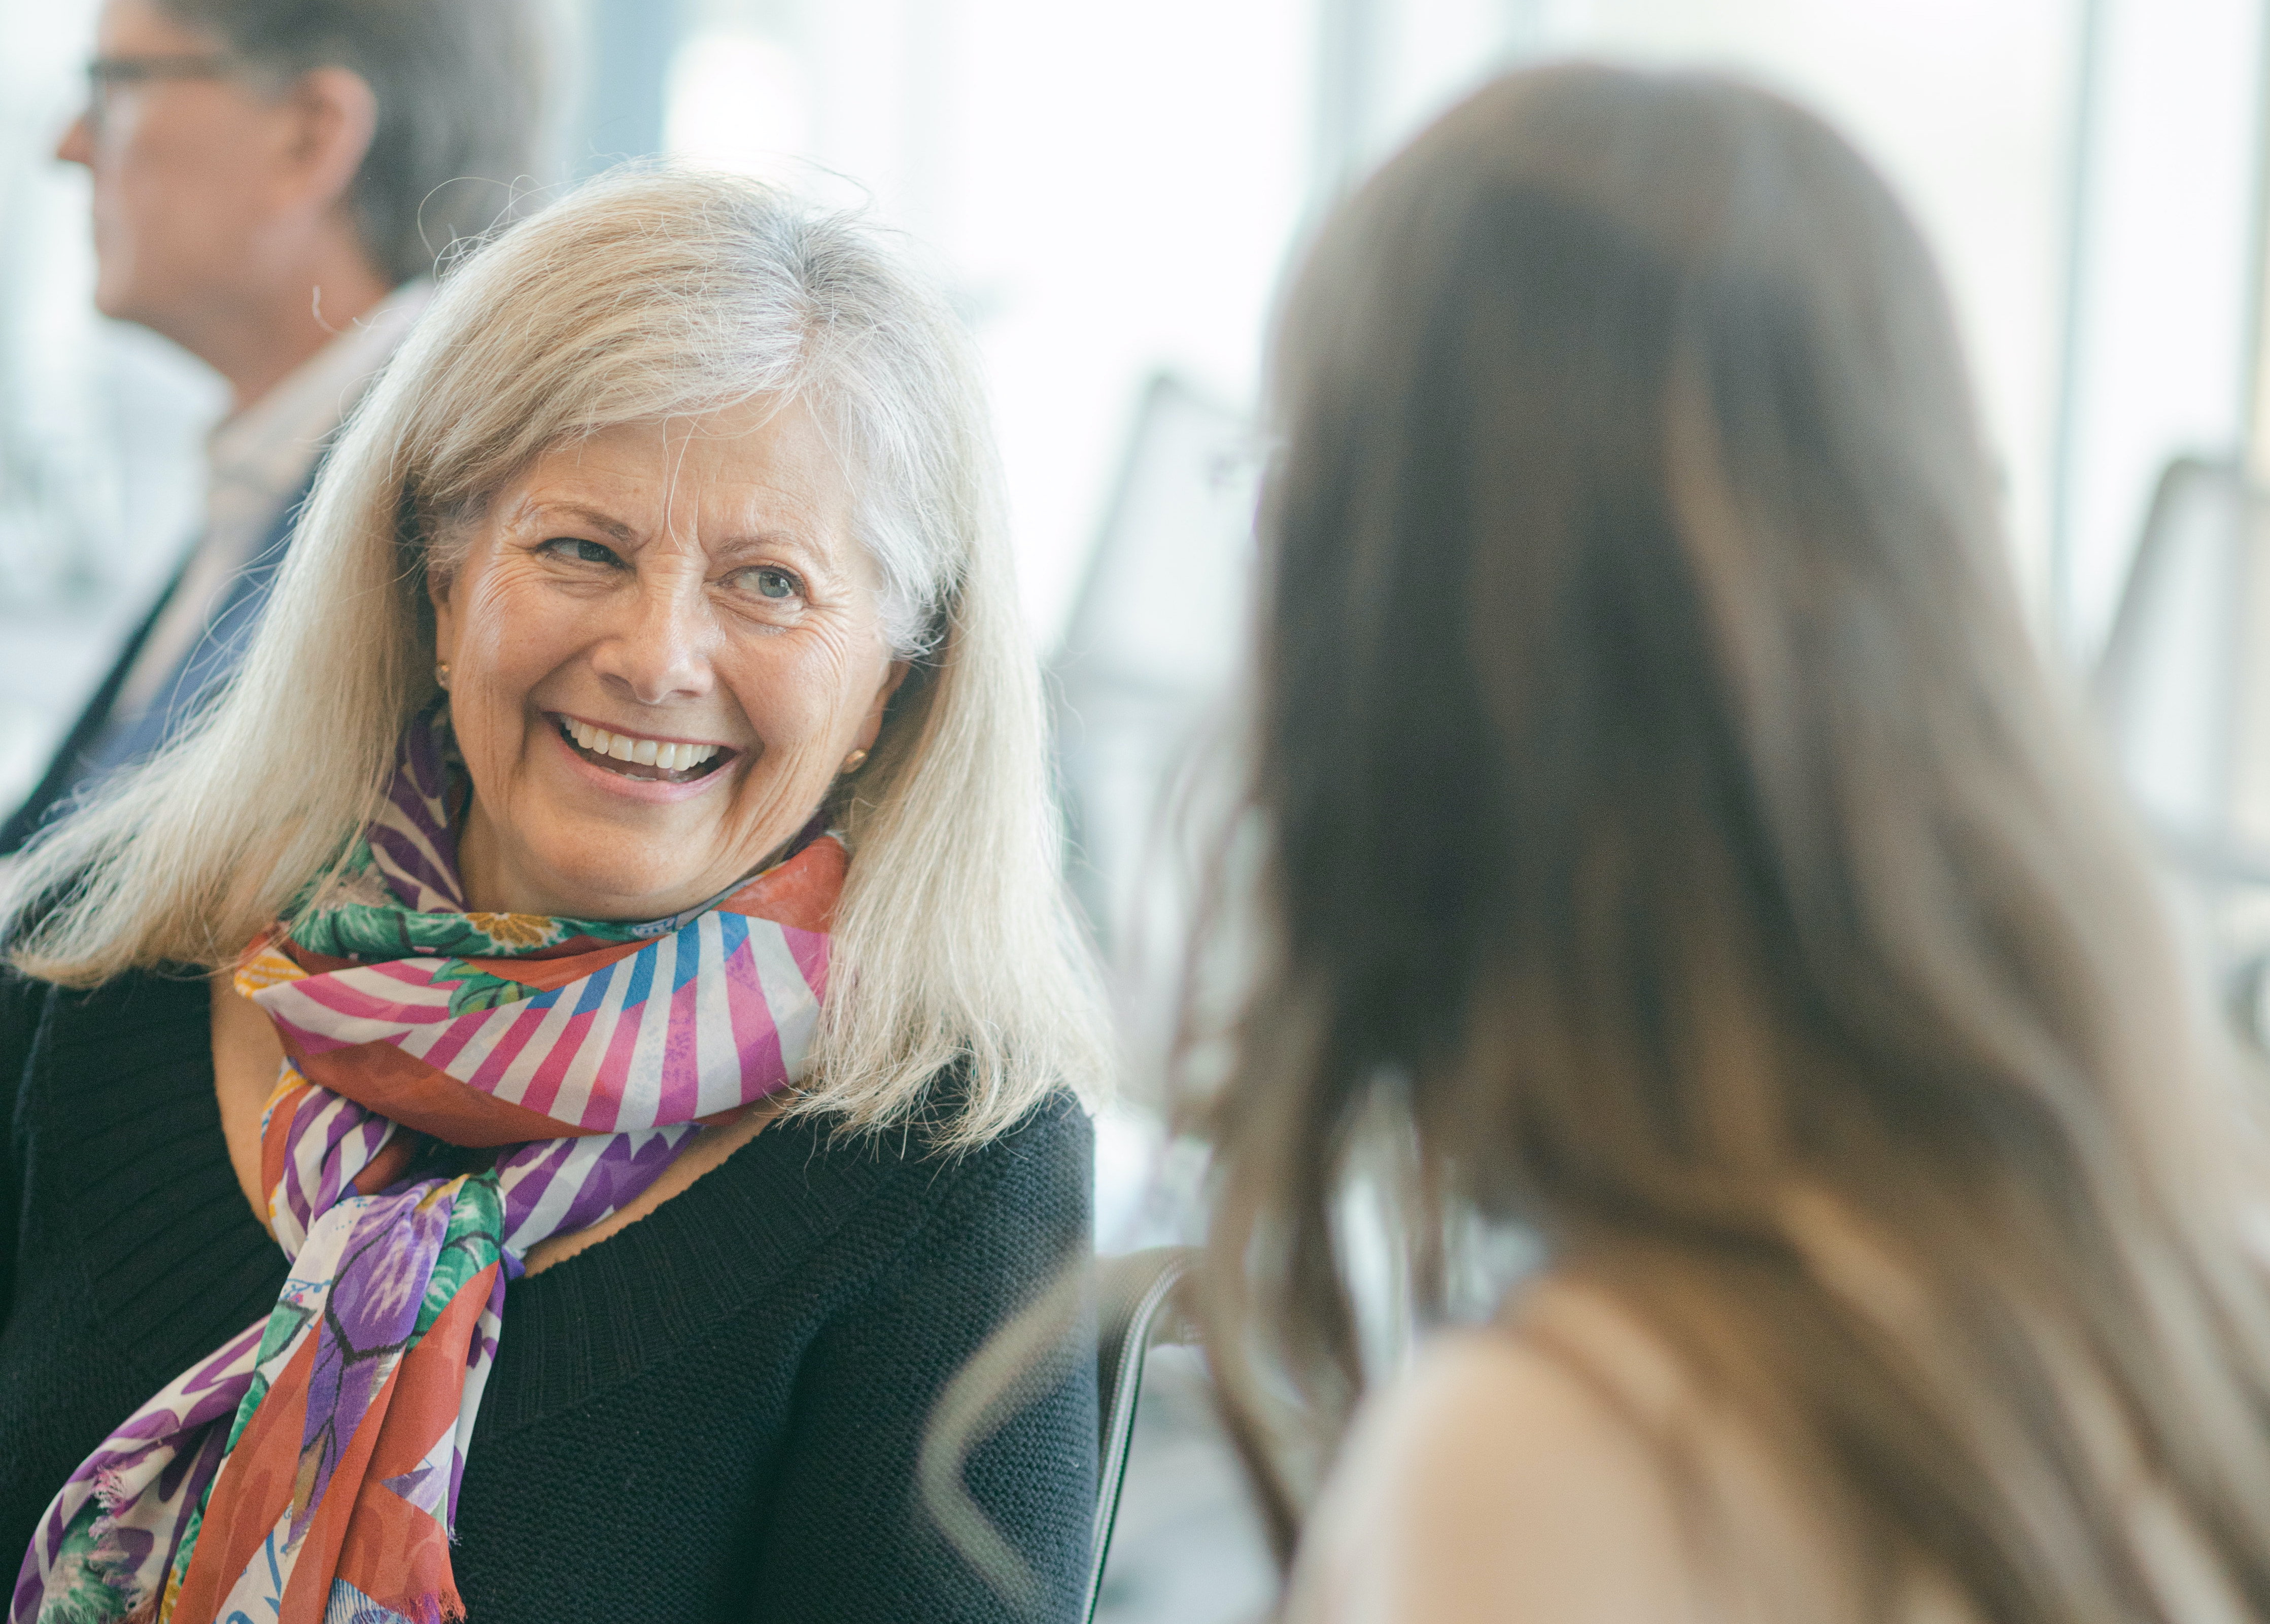
[[[754,182],[445,284],[238,684],[20,874],[11,1619],[999,1615],[915,1463],[1103,1068],[969,379]],[[969,1488],[1069,1613],[1092,1381]]]

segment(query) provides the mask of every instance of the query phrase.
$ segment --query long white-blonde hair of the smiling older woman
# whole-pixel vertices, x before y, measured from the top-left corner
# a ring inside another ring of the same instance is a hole
[[[604,175],[456,263],[327,459],[241,675],[25,854],[16,965],[229,963],[334,874],[436,695],[424,581],[459,520],[556,445],[749,400],[822,425],[913,659],[838,806],[854,859],[799,1108],[901,1120],[953,1063],[951,1142],[1060,1086],[1094,1104],[1101,999],[967,336],[856,216],[679,168]]]

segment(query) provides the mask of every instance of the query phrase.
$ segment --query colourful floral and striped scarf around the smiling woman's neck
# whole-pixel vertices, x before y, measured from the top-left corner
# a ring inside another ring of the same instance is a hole
[[[288,1056],[261,1186],[291,1276],[266,1324],[70,1476],[9,1624],[461,1617],[449,1535],[506,1281],[654,1183],[701,1124],[799,1079],[835,836],[651,924],[472,913],[454,770],[436,706],[347,884],[238,965]]]

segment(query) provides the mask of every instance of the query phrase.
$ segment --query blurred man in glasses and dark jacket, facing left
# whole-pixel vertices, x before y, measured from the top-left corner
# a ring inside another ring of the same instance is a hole
[[[322,445],[454,238],[536,179],[540,0],[107,0],[86,111],[95,304],[229,384],[204,531],[141,616],[0,856],[150,754],[241,659]]]

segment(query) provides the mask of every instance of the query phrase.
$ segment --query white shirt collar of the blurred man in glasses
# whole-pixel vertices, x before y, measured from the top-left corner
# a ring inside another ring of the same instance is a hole
[[[166,613],[150,627],[111,706],[111,729],[132,729],[211,627],[236,577],[306,482],[322,443],[434,298],[427,277],[404,282],[281,384],[225,418],[204,441],[204,536],[182,566]]]

